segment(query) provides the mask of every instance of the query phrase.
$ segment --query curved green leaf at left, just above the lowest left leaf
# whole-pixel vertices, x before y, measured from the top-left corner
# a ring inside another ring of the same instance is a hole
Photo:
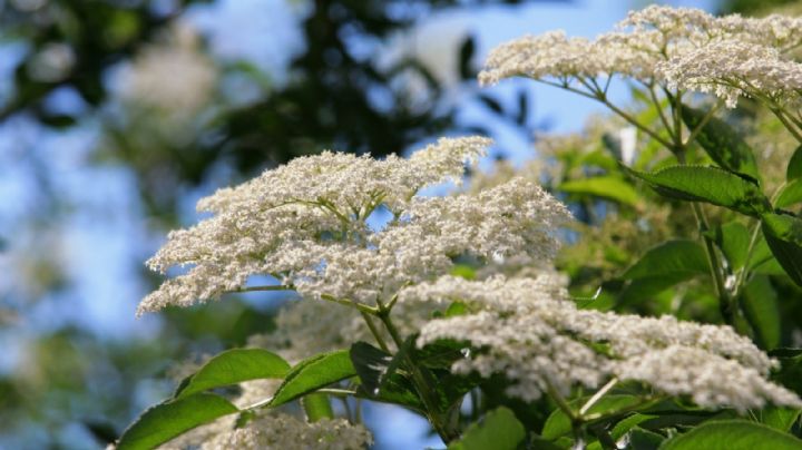
[[[204,364],[182,383],[175,398],[192,395],[208,389],[236,384],[247,380],[284,378],[290,364],[275,353],[262,349],[225,351]]]

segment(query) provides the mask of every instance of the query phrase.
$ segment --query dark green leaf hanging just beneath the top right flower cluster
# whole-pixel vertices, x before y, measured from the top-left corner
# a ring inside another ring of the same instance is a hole
[[[696,129],[707,111],[683,106],[682,117],[688,129]],[[760,179],[752,148],[724,120],[711,117],[696,135],[696,141],[722,168]]]

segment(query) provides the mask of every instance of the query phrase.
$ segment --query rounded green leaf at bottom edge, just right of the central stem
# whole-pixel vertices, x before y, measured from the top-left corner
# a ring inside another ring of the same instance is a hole
[[[507,408],[488,412],[479,423],[468,427],[462,438],[449,450],[515,450],[524,441],[526,430]]]

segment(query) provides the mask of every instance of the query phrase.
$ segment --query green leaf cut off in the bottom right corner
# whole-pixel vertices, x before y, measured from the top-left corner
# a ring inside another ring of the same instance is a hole
[[[802,440],[746,420],[705,422],[661,446],[661,450],[799,450]]]

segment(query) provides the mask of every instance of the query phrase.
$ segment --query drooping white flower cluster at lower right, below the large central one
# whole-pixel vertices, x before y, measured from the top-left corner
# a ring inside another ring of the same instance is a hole
[[[801,407],[766,376],[775,365],[728,326],[578,310],[554,274],[534,278],[467,281],[446,276],[404,288],[402,302],[460,301],[469,313],[431,321],[418,345],[452,339],[473,352],[452,370],[499,373],[508,394],[530,401],[554,389],[598,388],[612,378],[634,380],[701,407],[739,411],[766,402]]]

